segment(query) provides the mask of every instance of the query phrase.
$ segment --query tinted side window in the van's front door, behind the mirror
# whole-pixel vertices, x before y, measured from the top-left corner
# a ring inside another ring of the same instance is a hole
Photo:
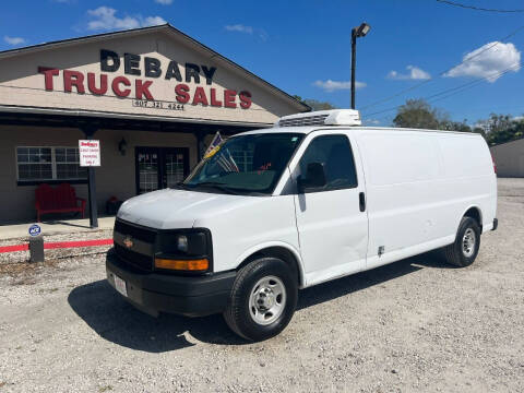
[[[326,184],[319,191],[332,191],[358,186],[349,140],[345,135],[318,136],[300,158],[300,174],[306,176],[310,163],[324,165]]]

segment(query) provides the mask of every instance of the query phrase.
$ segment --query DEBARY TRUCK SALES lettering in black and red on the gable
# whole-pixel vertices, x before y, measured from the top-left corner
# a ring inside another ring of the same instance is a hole
[[[117,52],[107,49],[100,49],[99,66],[100,73],[49,67],[38,67],[38,72],[44,75],[48,92],[55,91],[57,80],[62,79],[64,93],[105,96],[112,92],[120,98],[133,98],[136,107],[183,110],[183,105],[202,105],[249,109],[252,104],[248,91],[213,87],[216,67],[190,62],[181,67],[175,60],[162,62],[154,57],[133,53],[124,53],[120,58]],[[162,80],[174,82],[170,103],[156,100],[152,93],[152,87]],[[188,83],[194,86],[190,87]]]

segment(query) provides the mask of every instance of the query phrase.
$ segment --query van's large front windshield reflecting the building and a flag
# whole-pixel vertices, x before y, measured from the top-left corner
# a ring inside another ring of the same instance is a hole
[[[230,138],[210,152],[180,187],[207,192],[271,194],[302,136],[261,133]]]

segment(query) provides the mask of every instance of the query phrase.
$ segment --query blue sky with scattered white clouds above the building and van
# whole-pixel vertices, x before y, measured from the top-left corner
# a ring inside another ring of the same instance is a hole
[[[357,109],[389,126],[408,98],[427,98],[469,124],[524,114],[522,0],[19,0],[4,1],[0,50],[170,23],[291,95],[350,104],[350,31]],[[508,37],[509,36],[509,37]]]

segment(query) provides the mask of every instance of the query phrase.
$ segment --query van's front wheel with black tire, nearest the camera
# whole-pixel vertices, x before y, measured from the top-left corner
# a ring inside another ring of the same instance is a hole
[[[238,272],[224,319],[243,338],[267,340],[287,326],[297,297],[297,274],[288,264],[276,258],[257,259]]]

